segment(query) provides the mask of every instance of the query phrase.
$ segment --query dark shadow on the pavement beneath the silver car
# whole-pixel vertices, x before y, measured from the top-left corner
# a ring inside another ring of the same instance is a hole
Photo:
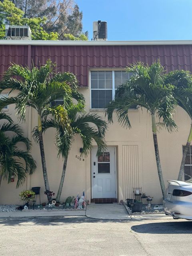
[[[131,229],[142,234],[192,234],[192,221],[140,224],[132,226]]]

